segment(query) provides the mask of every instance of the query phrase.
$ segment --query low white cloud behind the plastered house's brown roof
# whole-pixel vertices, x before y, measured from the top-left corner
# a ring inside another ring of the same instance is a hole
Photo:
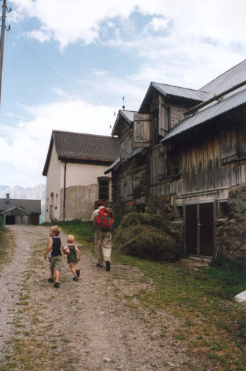
[[[1,179],[9,186],[45,183],[41,173],[53,129],[110,135],[116,108],[71,99],[25,110],[33,119],[20,120],[15,127],[0,126]]]

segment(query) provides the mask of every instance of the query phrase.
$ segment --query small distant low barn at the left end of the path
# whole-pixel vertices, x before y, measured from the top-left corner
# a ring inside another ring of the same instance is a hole
[[[9,197],[0,198],[0,219],[4,224],[39,225],[41,200],[18,200]]]

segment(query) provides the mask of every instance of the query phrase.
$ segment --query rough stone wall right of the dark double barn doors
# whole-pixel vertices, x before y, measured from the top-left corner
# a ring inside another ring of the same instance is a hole
[[[228,193],[228,216],[215,221],[215,256],[246,259],[246,186]]]

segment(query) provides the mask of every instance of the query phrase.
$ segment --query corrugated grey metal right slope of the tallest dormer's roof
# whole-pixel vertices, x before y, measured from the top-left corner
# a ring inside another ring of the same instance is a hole
[[[202,89],[204,91],[187,89],[187,88],[183,88],[182,86],[160,84],[158,82],[152,82],[152,84],[158,91],[160,91],[160,93],[163,93],[165,95],[179,96],[183,98],[199,100],[200,102],[207,99],[206,89]]]

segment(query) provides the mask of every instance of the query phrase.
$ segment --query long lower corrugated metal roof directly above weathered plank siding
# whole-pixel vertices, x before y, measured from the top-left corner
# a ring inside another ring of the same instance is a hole
[[[174,129],[172,129],[161,142],[167,141],[168,139],[181,134],[183,131],[198,126],[207,122],[209,119],[213,119],[214,117],[222,115],[223,113],[244,104],[246,104],[246,86],[242,86],[241,88],[232,91],[219,102],[215,100],[209,105],[206,105],[195,115],[190,115],[183,119],[183,121],[174,126]]]

